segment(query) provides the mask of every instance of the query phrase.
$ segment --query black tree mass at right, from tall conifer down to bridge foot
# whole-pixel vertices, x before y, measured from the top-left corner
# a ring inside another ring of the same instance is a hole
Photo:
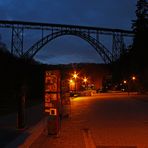
[[[121,81],[132,74],[138,76],[140,84],[148,88],[148,2],[138,0],[136,5],[136,20],[132,21],[135,32],[132,46],[129,46],[113,63],[113,81]]]

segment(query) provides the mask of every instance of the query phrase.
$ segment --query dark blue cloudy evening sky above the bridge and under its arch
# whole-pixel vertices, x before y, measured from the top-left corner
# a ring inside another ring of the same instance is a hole
[[[126,30],[131,30],[135,10],[135,0],[0,0],[1,20]],[[102,62],[87,42],[73,36],[55,39],[39,51],[35,58],[49,64]]]

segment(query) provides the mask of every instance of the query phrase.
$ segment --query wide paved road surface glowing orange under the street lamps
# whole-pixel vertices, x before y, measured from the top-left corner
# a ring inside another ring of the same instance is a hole
[[[148,96],[74,98],[58,137],[43,133],[31,148],[148,148]]]

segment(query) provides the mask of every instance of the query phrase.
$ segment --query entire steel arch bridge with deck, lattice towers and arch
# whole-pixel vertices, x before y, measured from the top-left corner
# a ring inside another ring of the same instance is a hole
[[[22,58],[33,58],[39,50],[53,39],[63,35],[78,36],[87,41],[105,63],[111,63],[123,52],[124,39],[133,37],[134,32],[121,29],[98,28],[77,25],[48,24],[0,20],[0,28],[11,29],[11,53]],[[29,49],[24,49],[25,30],[41,30],[41,38]],[[46,35],[45,35],[46,32]],[[100,35],[112,36],[112,51],[99,40]]]

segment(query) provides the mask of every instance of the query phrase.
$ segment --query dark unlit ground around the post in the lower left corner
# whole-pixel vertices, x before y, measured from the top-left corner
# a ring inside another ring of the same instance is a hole
[[[16,148],[22,143],[31,134],[31,127],[43,117],[42,108],[42,105],[37,105],[26,109],[26,129],[24,131],[17,129],[16,113],[0,117],[0,147]]]

